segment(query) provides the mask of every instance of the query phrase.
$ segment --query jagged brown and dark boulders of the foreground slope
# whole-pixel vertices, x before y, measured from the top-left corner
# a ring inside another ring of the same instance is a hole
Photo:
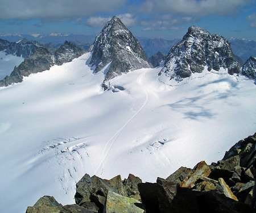
[[[27,213],[255,212],[255,144],[256,133],[236,143],[221,161],[181,167],[156,183],[142,183],[132,174],[123,181],[120,176],[106,180],[85,174],[76,185],[76,204],[63,206],[44,196]]]

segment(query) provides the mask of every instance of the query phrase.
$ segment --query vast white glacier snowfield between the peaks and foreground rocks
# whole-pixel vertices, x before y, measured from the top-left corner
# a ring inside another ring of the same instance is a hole
[[[103,91],[90,54],[0,88],[1,212],[26,212],[43,195],[75,203],[85,173],[155,182],[220,160],[256,130],[254,81],[205,68],[171,86],[159,67]]]

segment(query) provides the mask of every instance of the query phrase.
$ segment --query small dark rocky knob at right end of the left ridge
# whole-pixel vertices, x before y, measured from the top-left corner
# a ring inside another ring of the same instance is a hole
[[[54,53],[55,64],[62,65],[65,62],[70,62],[77,57],[80,57],[84,54],[84,50],[80,47],[77,47],[75,44],[72,44],[68,41],[65,41],[63,45],[60,46]]]

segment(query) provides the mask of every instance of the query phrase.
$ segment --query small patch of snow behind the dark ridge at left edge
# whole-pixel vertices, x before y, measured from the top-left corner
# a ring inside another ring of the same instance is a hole
[[[23,57],[7,55],[5,51],[0,51],[0,80],[10,76],[14,66],[19,66],[23,61]]]

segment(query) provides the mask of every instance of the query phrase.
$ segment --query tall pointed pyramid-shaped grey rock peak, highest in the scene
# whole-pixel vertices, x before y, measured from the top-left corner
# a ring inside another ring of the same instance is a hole
[[[90,65],[95,66],[96,73],[111,62],[106,80],[135,69],[150,68],[141,44],[116,16],[106,23],[89,51],[93,51]]]

